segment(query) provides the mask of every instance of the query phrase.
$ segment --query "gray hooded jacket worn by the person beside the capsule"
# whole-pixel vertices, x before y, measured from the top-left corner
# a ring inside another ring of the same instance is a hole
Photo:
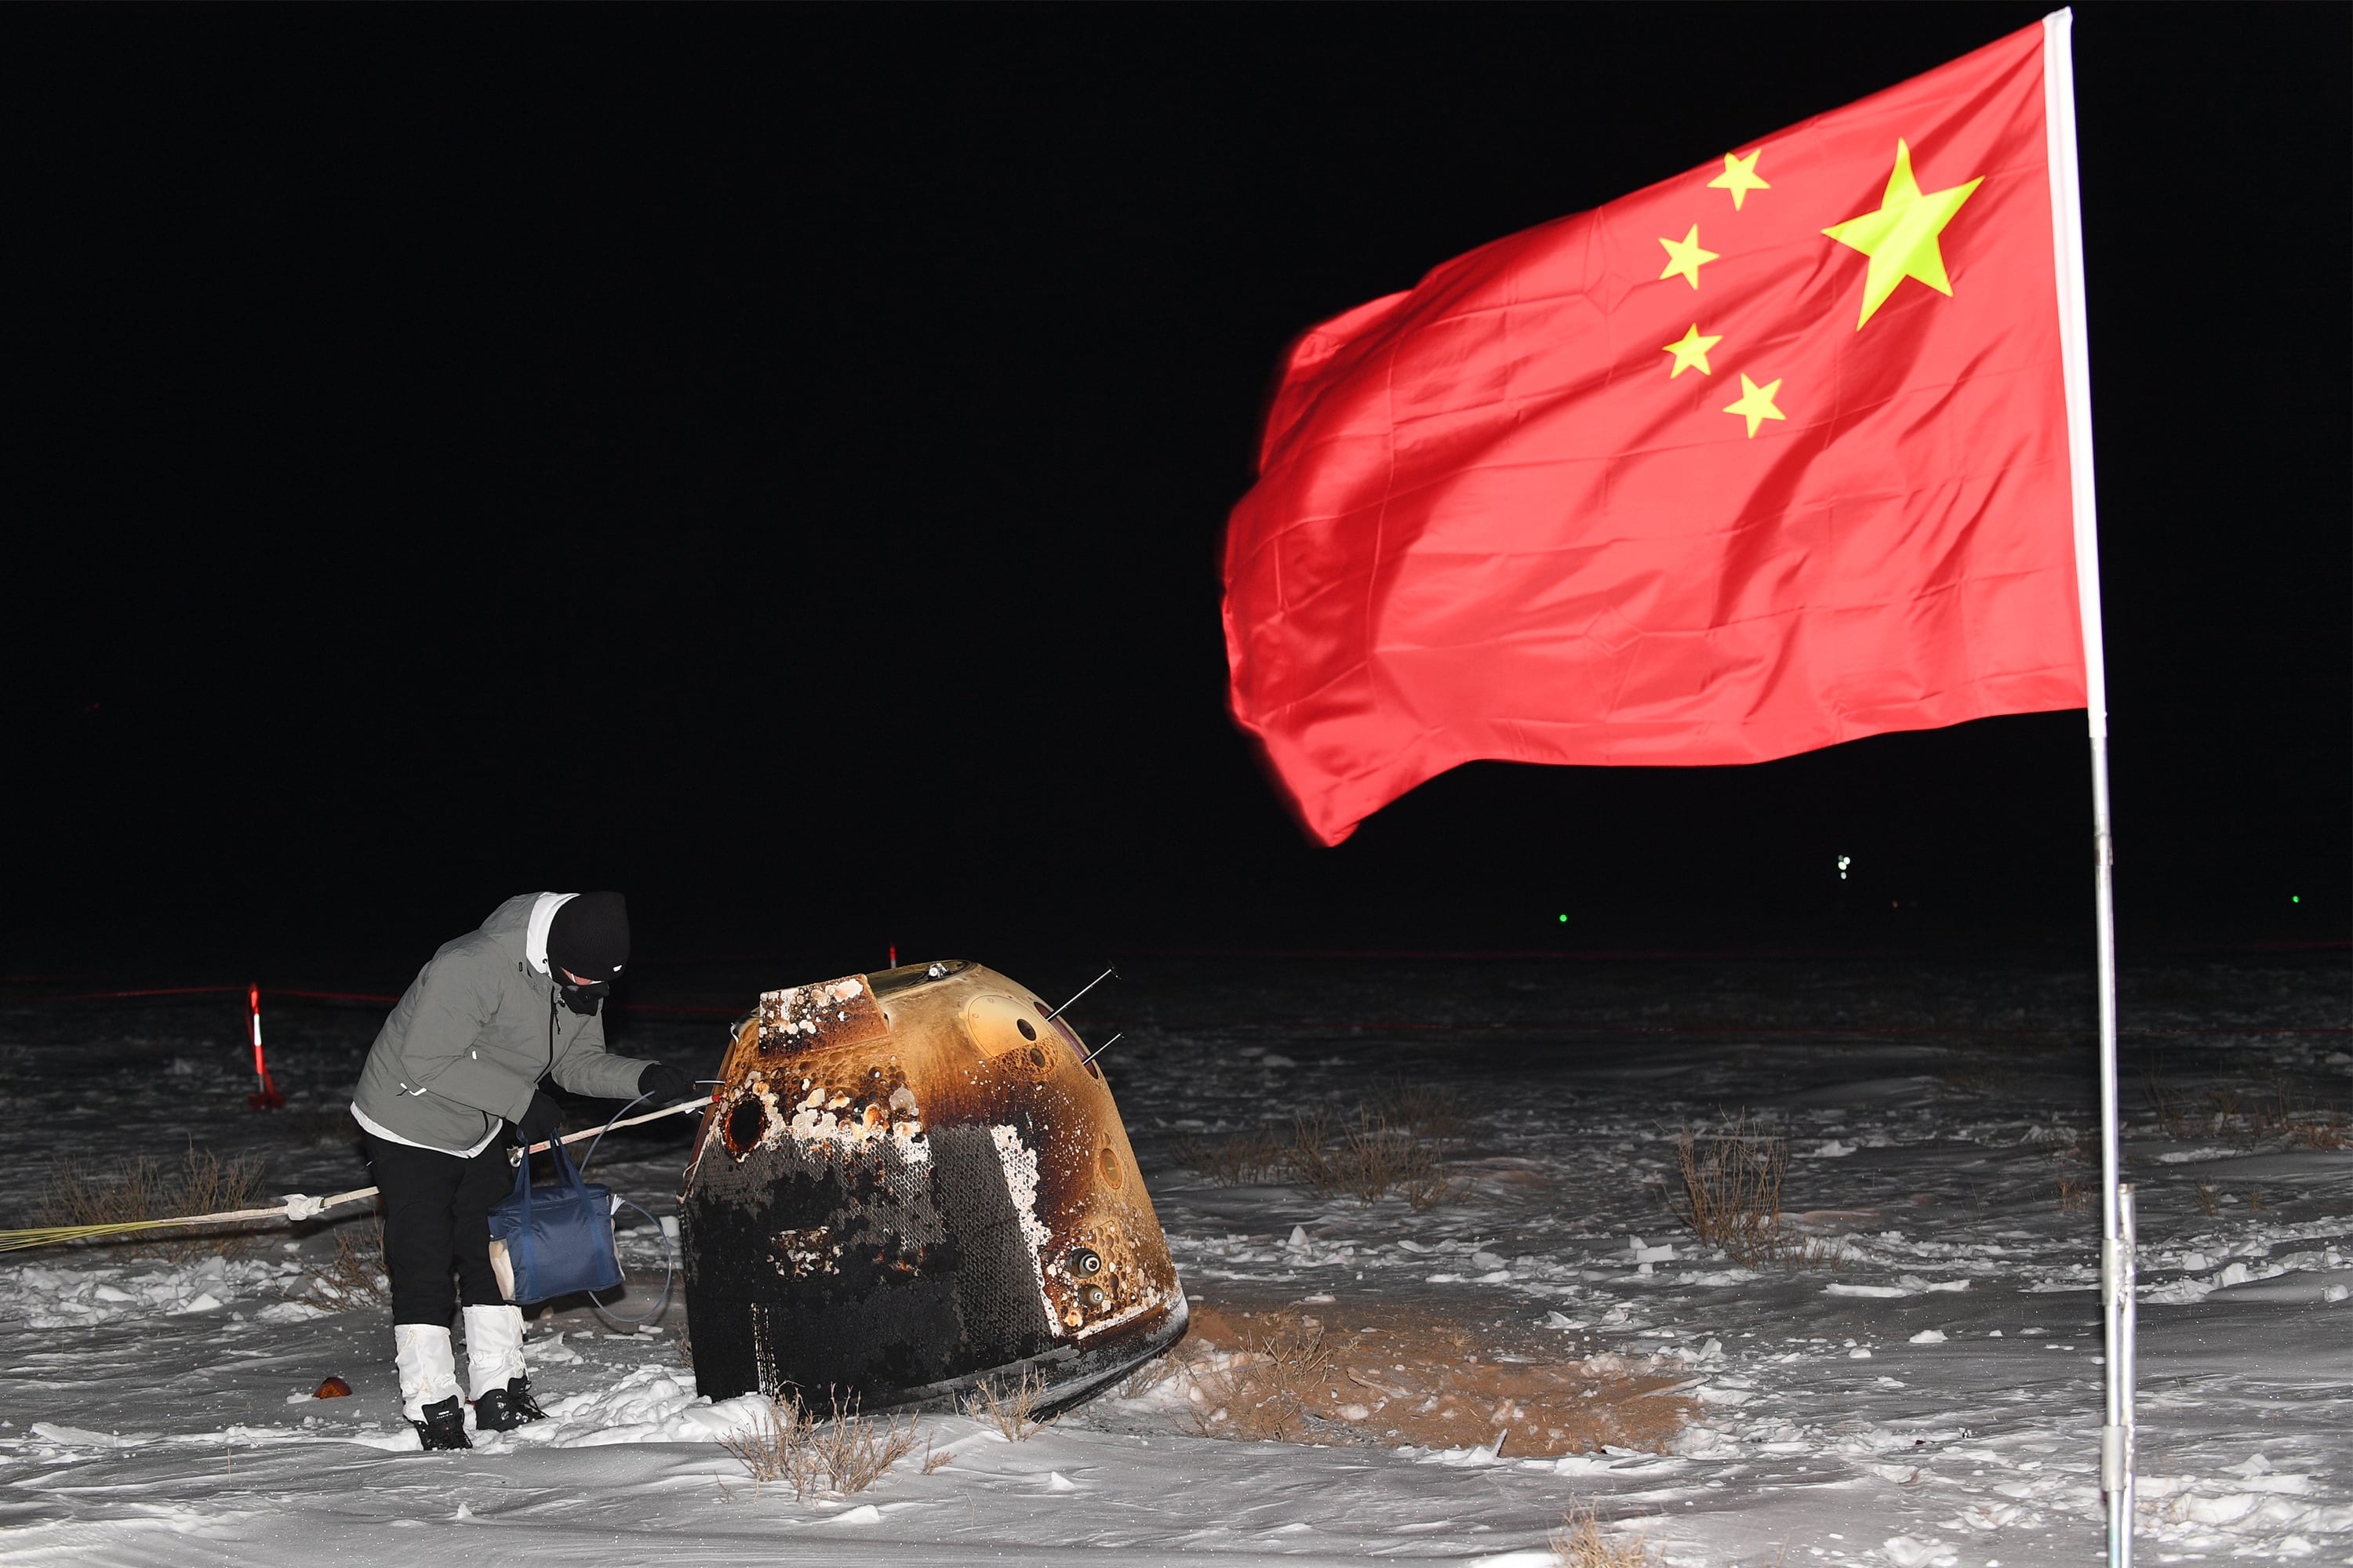
[[[376,1032],[353,1110],[386,1133],[461,1154],[518,1121],[544,1074],[628,1100],[645,1063],[605,1051],[605,1018],[562,1006],[548,919],[562,893],[518,893],[445,943]]]

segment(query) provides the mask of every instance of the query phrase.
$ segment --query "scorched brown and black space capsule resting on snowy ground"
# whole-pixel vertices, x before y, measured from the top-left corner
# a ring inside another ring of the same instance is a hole
[[[696,1387],[864,1410],[1174,1345],[1184,1288],[1111,1088],[1052,1006],[946,959],[765,992],[680,1194]]]

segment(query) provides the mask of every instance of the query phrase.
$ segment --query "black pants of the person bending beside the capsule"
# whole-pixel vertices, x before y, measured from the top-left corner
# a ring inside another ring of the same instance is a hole
[[[501,1307],[489,1269],[489,1206],[515,1187],[506,1140],[466,1159],[440,1150],[367,1138],[367,1171],[384,1194],[384,1272],[393,1276],[393,1321],[447,1328],[456,1300]],[[449,1269],[456,1269],[456,1300]]]

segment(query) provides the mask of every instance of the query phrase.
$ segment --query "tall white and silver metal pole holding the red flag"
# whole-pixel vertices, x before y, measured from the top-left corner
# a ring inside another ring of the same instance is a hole
[[[2082,294],[2082,186],[2075,167],[2073,12],[2042,19],[2042,125],[2049,148],[2052,244],[2059,273],[2059,360],[2066,378],[2068,477],[2075,501],[2075,592],[2082,609],[2085,708],[2092,731],[2092,898],[2099,933],[2099,1300],[2106,1328],[2106,1420],[2099,1490],[2108,1500],[2108,1568],[2132,1566],[2132,1192],[2118,1182],[2115,1119],[2115,844],[2108,830],[2108,665],[2099,625],[2099,501],[2092,487],[2092,355]]]

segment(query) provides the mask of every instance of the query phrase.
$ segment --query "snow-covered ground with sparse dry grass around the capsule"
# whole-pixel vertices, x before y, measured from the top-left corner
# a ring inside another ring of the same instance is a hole
[[[2353,1150],[2318,1147],[2353,1103],[2348,976],[2341,950],[2127,973],[2146,1561],[2353,1563]],[[0,1563],[1544,1563],[1579,1505],[1711,1568],[2099,1554],[2097,1211],[2061,1204],[2097,1171],[2085,976],[1160,961],[1082,1011],[1092,1039],[1127,1030],[1106,1067],[1202,1321],[1315,1316],[1365,1387],[1386,1373],[1362,1331],[1454,1324],[1466,1356],[1647,1373],[1687,1425],[1666,1453],[1548,1458],[1508,1410],[1497,1453],[1487,1410],[1428,1448],[1362,1406],[1322,1443],[1221,1441],[1188,1434],[1200,1403],[1172,1378],[1024,1443],[925,1418],[946,1465],[802,1505],[755,1495],[718,1446],[751,1403],[696,1399],[678,1314],[614,1333],[562,1312],[527,1347],[553,1420],[421,1455],[381,1307],[289,1300],[334,1253],[308,1227],[228,1260],[0,1255]],[[271,1192],[360,1185],[334,1107],[374,1023],[273,1016],[292,1107],[261,1117],[221,1004],[0,1001],[0,1213],[28,1215],[59,1159],[169,1164],[188,1135],[264,1154]],[[718,1056],[711,1023],[621,1027],[645,1056]],[[1348,1112],[1381,1079],[1468,1112],[1428,1211],[1179,1164],[1186,1138]],[[1671,1211],[1673,1133],[1739,1110],[1786,1138],[1802,1267],[1739,1267]],[[682,1126],[616,1135],[600,1180],[668,1213],[682,1145]],[[656,1258],[659,1232],[631,1253]],[[327,1375],[355,1394],[311,1399]]]

